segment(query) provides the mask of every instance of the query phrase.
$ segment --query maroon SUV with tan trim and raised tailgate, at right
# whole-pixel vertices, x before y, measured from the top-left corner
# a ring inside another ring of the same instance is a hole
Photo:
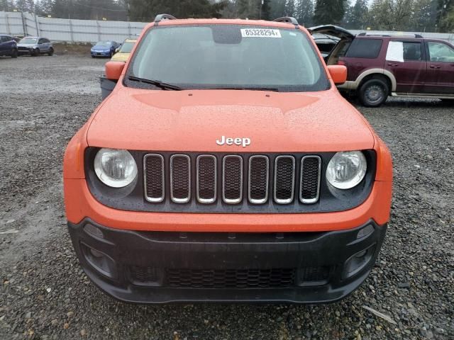
[[[337,26],[310,28],[339,38],[326,64],[348,69],[342,91],[357,91],[364,106],[380,106],[388,96],[454,99],[454,46],[414,36],[353,35]]]

